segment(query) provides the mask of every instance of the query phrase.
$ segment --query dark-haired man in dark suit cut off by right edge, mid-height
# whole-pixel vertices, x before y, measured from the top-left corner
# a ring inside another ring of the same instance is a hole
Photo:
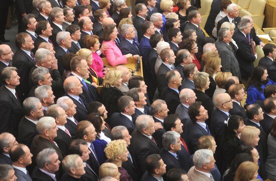
[[[266,135],[270,133],[273,118],[276,116],[276,98],[268,97],[263,101],[263,109],[265,111],[263,115],[263,120],[260,121],[260,124],[265,131]]]

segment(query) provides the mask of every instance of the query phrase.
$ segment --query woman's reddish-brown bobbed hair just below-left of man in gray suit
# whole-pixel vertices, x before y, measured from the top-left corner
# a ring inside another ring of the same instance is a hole
[[[218,53],[212,51],[203,53],[201,59],[205,63],[203,71],[208,73],[210,76],[213,76],[218,66],[221,65],[221,58]]]

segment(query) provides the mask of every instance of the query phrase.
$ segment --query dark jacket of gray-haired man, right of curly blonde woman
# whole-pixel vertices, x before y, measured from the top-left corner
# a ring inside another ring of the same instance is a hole
[[[160,149],[154,141],[141,132],[134,130],[131,134],[130,150],[137,163],[141,175],[146,171],[146,157],[150,154],[159,153]]]

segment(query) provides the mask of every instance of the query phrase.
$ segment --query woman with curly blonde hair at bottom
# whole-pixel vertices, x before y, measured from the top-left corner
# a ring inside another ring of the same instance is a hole
[[[118,166],[118,170],[120,172],[120,180],[121,181],[132,181],[131,176],[127,173],[127,171],[122,167],[122,163],[127,161],[127,144],[125,140],[118,139],[113,140],[107,144],[104,149],[106,157],[109,159],[111,163],[114,163]]]

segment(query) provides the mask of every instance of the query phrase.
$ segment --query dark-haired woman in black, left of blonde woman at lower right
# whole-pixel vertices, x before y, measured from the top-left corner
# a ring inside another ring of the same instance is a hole
[[[242,144],[240,133],[244,128],[244,121],[241,116],[231,115],[225,124],[225,131],[222,137],[222,172],[224,172],[231,163],[231,160],[237,154],[238,147]]]

